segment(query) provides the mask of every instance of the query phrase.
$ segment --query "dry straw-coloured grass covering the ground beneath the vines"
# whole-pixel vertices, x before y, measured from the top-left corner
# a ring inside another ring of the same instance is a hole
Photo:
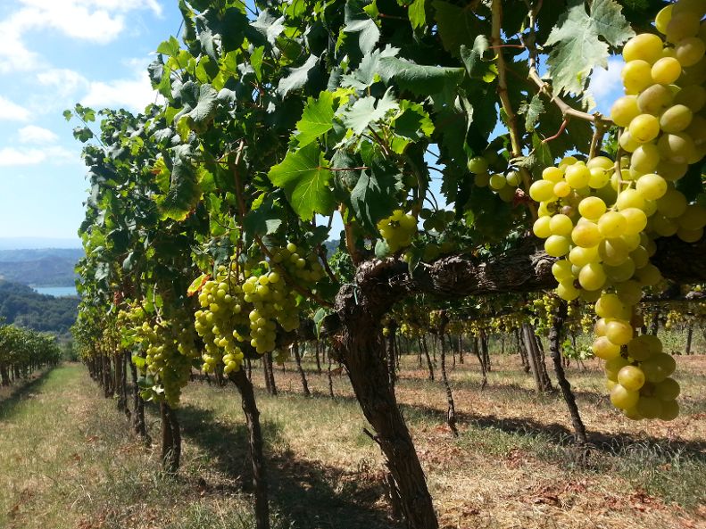
[[[467,357],[451,373],[461,435],[444,425],[445,395],[405,357],[398,400],[446,529],[706,528],[706,356],[680,358],[684,413],[672,423],[632,423],[602,393],[597,363],[572,366],[594,448],[571,442],[556,395],[537,396],[517,357],[494,357],[481,391]],[[383,529],[382,459],[345,376],[305,363],[277,371],[280,394],[258,405],[268,455],[274,526]],[[0,401],[0,527],[201,529],[253,526],[245,426],[235,388],[190,384],[179,417],[183,467],[158,471],[156,446],[129,434],[123,417],[77,365],[55,369]],[[148,417],[157,437],[158,421]]]

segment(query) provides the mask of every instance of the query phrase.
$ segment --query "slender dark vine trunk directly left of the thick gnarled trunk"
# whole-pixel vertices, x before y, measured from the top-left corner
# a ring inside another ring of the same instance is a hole
[[[243,403],[243,413],[248,431],[250,461],[253,465],[253,486],[255,489],[255,526],[257,529],[270,529],[270,502],[265,472],[265,458],[262,451],[262,428],[260,411],[257,409],[253,384],[242,369],[231,372],[230,380],[237,386]]]

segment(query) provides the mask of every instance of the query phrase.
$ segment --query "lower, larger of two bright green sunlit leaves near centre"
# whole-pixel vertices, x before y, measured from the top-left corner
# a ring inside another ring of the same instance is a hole
[[[328,186],[332,174],[316,144],[288,152],[284,161],[270,169],[268,177],[272,184],[285,190],[287,200],[301,219],[309,220],[314,213],[328,215],[336,206]]]

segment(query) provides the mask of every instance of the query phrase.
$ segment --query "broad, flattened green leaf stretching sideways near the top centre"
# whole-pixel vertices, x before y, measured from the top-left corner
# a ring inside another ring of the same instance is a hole
[[[415,95],[429,95],[444,89],[453,89],[463,79],[462,68],[424,66],[396,57],[380,59],[380,77],[395,83]]]

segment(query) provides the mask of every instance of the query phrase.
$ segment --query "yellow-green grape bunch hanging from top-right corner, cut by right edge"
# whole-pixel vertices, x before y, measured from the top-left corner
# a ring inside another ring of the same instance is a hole
[[[670,4],[655,21],[666,42],[649,33],[627,42],[626,95],[610,111],[624,128],[620,145],[631,153],[620,178],[633,184],[633,196],[624,200],[644,209],[652,236],[677,235],[687,243],[701,239],[706,225],[706,210],[688,204],[674,186],[706,155],[704,12],[703,2]]]

